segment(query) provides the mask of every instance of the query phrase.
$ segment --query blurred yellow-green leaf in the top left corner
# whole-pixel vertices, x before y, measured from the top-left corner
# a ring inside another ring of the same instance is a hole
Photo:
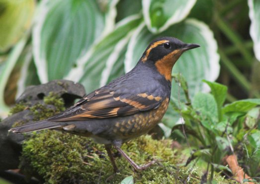
[[[20,40],[31,26],[35,0],[0,1],[0,52]]]

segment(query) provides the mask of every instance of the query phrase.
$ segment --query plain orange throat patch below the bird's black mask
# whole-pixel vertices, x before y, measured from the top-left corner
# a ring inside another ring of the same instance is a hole
[[[174,50],[155,63],[158,72],[162,74],[166,80],[172,82],[173,65],[176,63],[180,55],[180,50]]]

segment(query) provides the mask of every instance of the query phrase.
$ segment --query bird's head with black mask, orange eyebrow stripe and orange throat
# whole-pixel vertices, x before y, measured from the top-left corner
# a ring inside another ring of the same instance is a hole
[[[199,47],[197,44],[183,43],[173,37],[161,37],[154,40],[145,50],[141,62],[154,64],[158,72],[172,81],[172,69],[180,55],[189,49]]]

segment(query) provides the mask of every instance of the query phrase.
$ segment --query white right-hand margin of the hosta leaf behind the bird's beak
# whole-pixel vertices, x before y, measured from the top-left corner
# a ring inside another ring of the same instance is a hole
[[[220,56],[218,54],[218,44],[214,38],[212,30],[202,21],[194,18],[189,18],[185,20],[186,23],[197,26],[200,30],[200,34],[204,36],[208,43],[207,53],[209,55],[209,70],[206,72],[206,77],[208,81],[216,81],[220,73]],[[210,88],[207,84],[203,83],[202,92],[210,92]]]

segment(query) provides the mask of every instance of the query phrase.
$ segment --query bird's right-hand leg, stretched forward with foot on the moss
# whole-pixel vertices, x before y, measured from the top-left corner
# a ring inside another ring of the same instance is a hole
[[[157,161],[153,160],[143,166],[138,166],[120,147],[121,147],[121,141],[120,142],[114,142],[113,146],[115,147],[115,149],[134,167],[134,169],[136,171],[138,170],[145,170],[147,168],[149,168],[150,166],[152,166],[153,164],[155,164]]]

